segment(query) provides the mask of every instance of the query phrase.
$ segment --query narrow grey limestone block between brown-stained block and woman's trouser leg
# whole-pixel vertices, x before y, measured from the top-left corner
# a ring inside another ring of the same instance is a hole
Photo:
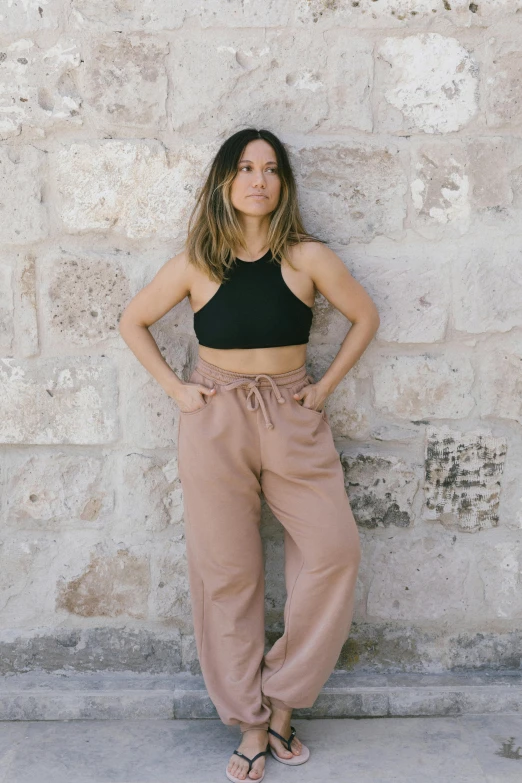
[[[166,627],[194,632],[184,541],[164,541],[152,547],[151,615]]]

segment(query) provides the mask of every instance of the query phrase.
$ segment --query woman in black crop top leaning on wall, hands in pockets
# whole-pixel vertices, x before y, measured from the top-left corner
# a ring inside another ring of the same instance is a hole
[[[352,323],[318,380],[305,366],[316,289]],[[199,341],[188,381],[148,331],[186,296]],[[292,709],[313,705],[348,636],[360,545],[324,404],[378,325],[339,256],[304,230],[285,147],[253,128],[223,143],[185,249],[120,320],[180,411],[194,633],[210,698],[242,732],[232,781],[262,780],[269,750],[308,759]],[[264,657],[261,492],[284,526],[287,588],[284,634]]]

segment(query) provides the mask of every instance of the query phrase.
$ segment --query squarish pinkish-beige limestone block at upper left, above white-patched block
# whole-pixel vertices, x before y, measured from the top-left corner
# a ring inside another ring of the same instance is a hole
[[[146,35],[113,34],[94,40],[85,54],[86,113],[98,128],[165,127],[166,42]]]

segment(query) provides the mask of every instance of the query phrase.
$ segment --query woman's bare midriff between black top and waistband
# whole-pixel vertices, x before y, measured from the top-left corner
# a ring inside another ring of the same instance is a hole
[[[281,345],[276,348],[208,348],[199,346],[199,355],[206,362],[223,370],[247,375],[266,373],[274,375],[301,367],[306,361],[307,344]]]

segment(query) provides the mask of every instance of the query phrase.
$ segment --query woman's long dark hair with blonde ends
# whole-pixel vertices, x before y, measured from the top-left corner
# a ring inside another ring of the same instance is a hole
[[[270,215],[267,243],[276,261],[288,257],[299,242],[322,242],[305,231],[297,203],[297,187],[283,143],[269,130],[245,128],[230,136],[217,151],[189,218],[185,250],[188,260],[219,283],[234,263],[233,247],[244,247],[245,236],[230,200],[232,181],[246,145],[264,139],[275,152],[281,181],[279,203]]]

